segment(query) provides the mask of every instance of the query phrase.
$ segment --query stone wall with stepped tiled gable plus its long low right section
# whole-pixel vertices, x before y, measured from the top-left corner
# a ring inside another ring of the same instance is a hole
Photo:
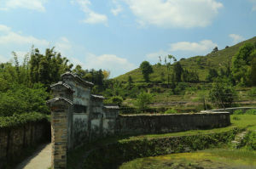
[[[67,151],[114,134],[180,132],[227,127],[230,113],[176,115],[119,115],[119,106],[103,105],[104,97],[91,94],[93,84],[67,72],[51,86],[52,167],[67,167]],[[68,106],[67,106],[68,105]]]

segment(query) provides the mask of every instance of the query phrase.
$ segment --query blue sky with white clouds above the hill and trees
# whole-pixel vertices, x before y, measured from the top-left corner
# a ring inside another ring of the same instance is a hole
[[[0,0],[0,63],[46,48],[119,76],[256,36],[256,0]]]

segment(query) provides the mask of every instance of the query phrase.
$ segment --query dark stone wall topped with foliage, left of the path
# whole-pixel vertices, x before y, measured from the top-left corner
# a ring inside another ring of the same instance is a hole
[[[28,122],[20,127],[0,128],[0,168],[8,161],[17,161],[24,149],[49,141],[49,121]]]

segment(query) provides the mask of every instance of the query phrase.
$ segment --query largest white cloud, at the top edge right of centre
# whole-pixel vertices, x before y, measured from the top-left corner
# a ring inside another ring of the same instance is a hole
[[[125,0],[140,25],[205,27],[218,14],[216,0]]]

